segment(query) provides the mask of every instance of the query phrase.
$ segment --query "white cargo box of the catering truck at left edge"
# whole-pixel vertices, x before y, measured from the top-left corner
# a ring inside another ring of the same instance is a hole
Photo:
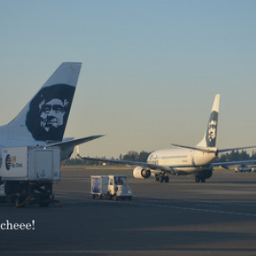
[[[3,180],[41,181],[61,179],[61,149],[38,147],[2,148]]]

